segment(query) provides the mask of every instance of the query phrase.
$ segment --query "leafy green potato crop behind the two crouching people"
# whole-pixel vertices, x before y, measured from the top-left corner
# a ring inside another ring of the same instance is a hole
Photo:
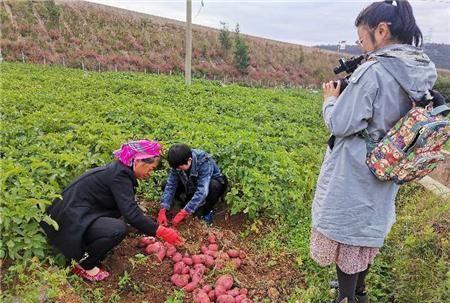
[[[317,94],[16,63],[1,74],[1,258],[43,256],[46,205],[122,142],[143,137],[213,154],[234,213],[309,215],[326,141]],[[164,177],[141,193],[157,199]]]

